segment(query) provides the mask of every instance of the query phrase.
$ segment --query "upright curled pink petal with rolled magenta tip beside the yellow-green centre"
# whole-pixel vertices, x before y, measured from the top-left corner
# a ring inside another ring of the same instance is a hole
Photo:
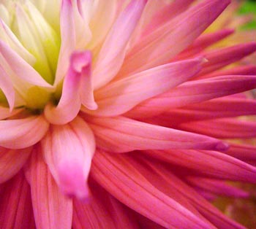
[[[64,125],[72,121],[80,111],[81,102],[96,109],[91,86],[91,53],[72,53],[69,70],[64,78],[61,99],[57,106],[45,106],[45,117],[50,123]]]

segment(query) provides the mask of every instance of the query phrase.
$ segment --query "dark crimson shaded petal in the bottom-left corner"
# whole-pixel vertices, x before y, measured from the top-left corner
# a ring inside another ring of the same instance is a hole
[[[0,197],[1,228],[35,229],[31,194],[23,173],[4,184]]]

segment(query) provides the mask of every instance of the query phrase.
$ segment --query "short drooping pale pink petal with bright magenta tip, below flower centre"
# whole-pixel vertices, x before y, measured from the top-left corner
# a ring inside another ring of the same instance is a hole
[[[87,178],[94,155],[94,134],[80,117],[66,125],[51,125],[42,140],[42,152],[61,191],[89,197]]]

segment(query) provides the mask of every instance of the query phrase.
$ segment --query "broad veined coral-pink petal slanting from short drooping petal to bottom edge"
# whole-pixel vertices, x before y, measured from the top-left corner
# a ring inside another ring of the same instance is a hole
[[[165,228],[211,228],[195,214],[151,185],[121,155],[99,152],[91,176],[119,201]]]

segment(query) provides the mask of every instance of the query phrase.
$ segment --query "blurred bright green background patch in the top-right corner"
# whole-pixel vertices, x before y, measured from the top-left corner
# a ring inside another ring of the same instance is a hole
[[[243,28],[252,29],[256,28],[256,0],[247,0],[244,1],[241,8],[239,9],[239,14],[251,14],[254,15],[254,20],[252,22],[246,24]]]

